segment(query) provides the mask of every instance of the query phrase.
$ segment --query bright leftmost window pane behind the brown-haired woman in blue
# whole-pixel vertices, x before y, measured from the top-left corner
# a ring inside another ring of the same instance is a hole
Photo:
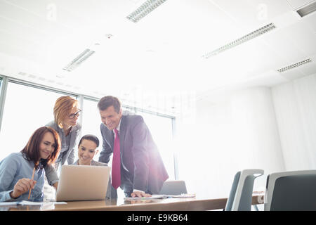
[[[60,94],[8,82],[0,132],[0,160],[25,147],[33,132],[53,120]]]

